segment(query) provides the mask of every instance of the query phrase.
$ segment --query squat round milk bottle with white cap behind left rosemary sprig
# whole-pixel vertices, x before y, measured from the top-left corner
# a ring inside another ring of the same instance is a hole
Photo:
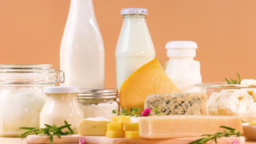
[[[44,128],[44,124],[55,124],[60,127],[65,125],[64,121],[67,121],[72,129],[78,131],[79,122],[84,118],[77,100],[79,88],[77,86],[44,87],[44,92],[46,101],[40,112],[40,128]]]

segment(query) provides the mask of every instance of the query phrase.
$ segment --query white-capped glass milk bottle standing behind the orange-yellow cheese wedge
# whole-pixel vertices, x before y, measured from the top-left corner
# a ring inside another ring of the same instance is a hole
[[[135,70],[155,58],[155,48],[146,22],[147,9],[121,10],[123,26],[115,49],[115,85],[123,82]]]

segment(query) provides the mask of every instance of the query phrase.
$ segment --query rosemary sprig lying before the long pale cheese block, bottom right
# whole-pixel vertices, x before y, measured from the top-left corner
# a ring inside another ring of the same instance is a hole
[[[220,126],[220,128],[224,128],[224,129],[227,129],[227,130],[225,130],[224,132],[219,132],[219,133],[213,134],[213,135],[211,135],[211,134],[201,135],[201,136],[207,136],[207,137],[203,137],[199,140],[195,140],[193,142],[190,142],[189,144],[203,144],[203,143],[206,143],[207,141],[210,141],[212,139],[214,139],[214,141],[217,143],[217,139],[219,137],[229,137],[231,135],[235,135],[237,137],[240,136],[240,132],[236,129],[225,127],[225,126]]]

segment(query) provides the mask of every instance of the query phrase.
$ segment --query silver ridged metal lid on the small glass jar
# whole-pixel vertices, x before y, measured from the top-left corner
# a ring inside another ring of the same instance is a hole
[[[80,89],[78,99],[117,99],[118,89]]]

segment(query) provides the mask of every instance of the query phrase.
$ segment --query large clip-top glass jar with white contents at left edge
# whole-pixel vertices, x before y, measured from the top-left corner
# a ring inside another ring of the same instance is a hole
[[[43,87],[64,81],[50,64],[0,64],[0,136],[16,137],[19,127],[39,127],[44,105]]]

